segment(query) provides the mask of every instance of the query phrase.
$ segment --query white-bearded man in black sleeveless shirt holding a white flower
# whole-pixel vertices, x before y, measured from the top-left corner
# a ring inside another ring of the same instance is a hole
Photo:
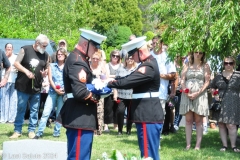
[[[49,44],[46,35],[40,34],[33,45],[23,46],[17,56],[14,66],[18,70],[15,89],[17,90],[18,106],[14,122],[14,133],[11,139],[22,134],[22,125],[27,103],[30,104],[28,137],[35,137],[38,121],[38,107],[43,77],[47,74],[49,56],[45,49]]]

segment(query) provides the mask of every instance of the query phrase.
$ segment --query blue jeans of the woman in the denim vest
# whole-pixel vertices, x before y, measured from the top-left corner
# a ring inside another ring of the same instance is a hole
[[[57,93],[48,93],[48,97],[47,100],[45,102],[45,106],[44,106],[44,110],[43,110],[43,114],[41,117],[41,121],[38,125],[38,132],[37,132],[37,136],[41,136],[43,135],[43,131],[46,128],[46,124],[47,124],[47,120],[51,114],[51,111],[54,107],[57,106],[57,110],[56,110],[56,117],[58,116],[62,106],[63,106],[63,96],[62,95],[58,95]],[[60,135],[60,128],[61,128],[61,124],[56,122],[55,123],[55,127],[54,127],[54,132],[53,132],[53,136],[59,136]]]

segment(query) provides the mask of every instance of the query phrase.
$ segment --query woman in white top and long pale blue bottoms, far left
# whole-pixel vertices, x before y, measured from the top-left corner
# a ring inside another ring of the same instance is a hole
[[[13,54],[13,45],[7,43],[5,45],[5,53],[8,60],[11,63],[11,72],[8,77],[7,84],[1,89],[0,98],[0,122],[1,123],[13,123],[17,113],[17,91],[15,90],[15,79],[17,77],[17,71],[13,66],[17,55]],[[5,75],[5,69],[3,69],[2,77]]]

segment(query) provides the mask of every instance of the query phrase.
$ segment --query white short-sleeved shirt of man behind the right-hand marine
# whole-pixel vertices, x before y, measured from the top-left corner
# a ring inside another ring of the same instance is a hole
[[[156,55],[153,51],[151,51],[151,55],[157,60],[160,74],[176,72],[175,65],[172,62],[168,62],[166,52],[162,52],[161,54]],[[169,80],[160,78],[159,99],[167,100],[168,84]]]

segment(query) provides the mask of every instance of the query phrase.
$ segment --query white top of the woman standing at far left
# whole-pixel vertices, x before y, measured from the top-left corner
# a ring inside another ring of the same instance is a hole
[[[12,54],[11,57],[8,58],[10,64],[11,64],[11,70],[10,70],[10,74],[9,74],[9,77],[8,77],[8,82],[11,82],[11,83],[15,83],[15,80],[17,78],[17,70],[16,68],[13,66],[15,60],[17,58],[17,55],[16,54]],[[2,78],[4,77],[5,75],[5,70],[6,69],[3,69],[2,70]]]

